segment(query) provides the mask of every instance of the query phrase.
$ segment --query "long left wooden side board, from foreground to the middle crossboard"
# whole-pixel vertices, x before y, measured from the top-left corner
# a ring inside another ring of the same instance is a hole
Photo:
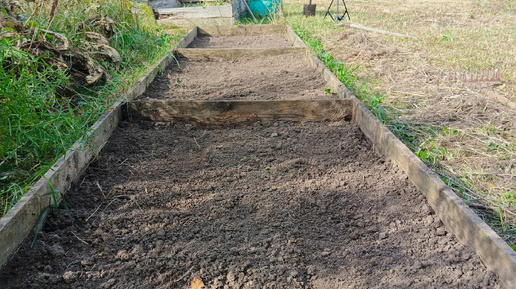
[[[9,261],[25,238],[30,235],[43,211],[51,204],[52,192],[59,202],[61,193],[70,188],[71,183],[83,173],[89,161],[104,147],[118,125],[122,115],[122,104],[140,96],[156,75],[164,70],[171,61],[173,61],[173,50],[167,52],[149,68],[147,73],[140,77],[119,98],[119,101],[115,102],[93,124],[86,140],[77,140],[0,219],[0,268]]]

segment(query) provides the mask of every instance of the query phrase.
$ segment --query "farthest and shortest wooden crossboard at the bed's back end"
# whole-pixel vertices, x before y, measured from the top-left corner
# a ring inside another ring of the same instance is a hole
[[[271,33],[284,34],[287,25],[235,25],[235,26],[202,26],[199,27],[199,35],[209,35],[213,37],[235,36],[235,35],[263,35]]]

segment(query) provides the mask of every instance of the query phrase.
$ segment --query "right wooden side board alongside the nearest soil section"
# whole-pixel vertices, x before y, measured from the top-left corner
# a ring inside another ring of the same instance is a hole
[[[355,98],[355,121],[376,151],[393,161],[425,195],[447,230],[473,248],[504,288],[516,288],[516,252]]]

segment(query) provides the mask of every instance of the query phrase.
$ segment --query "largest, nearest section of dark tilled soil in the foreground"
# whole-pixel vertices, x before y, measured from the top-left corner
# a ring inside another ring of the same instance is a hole
[[[122,122],[2,288],[493,288],[349,123]]]

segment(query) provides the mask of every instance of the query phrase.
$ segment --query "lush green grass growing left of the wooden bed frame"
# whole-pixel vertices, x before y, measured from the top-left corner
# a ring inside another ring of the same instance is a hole
[[[96,1],[94,1],[96,2]],[[72,85],[66,71],[53,69],[44,57],[34,57],[15,46],[16,39],[0,40],[0,216],[4,215],[71,145],[86,136],[90,126],[146,69],[161,58],[179,36],[163,33],[150,9],[131,13],[131,1],[98,2],[99,9],[88,11],[92,3],[60,1],[60,10],[49,30],[65,35],[80,46],[81,25],[101,13],[114,20],[110,45],[122,57],[115,67],[103,63],[109,81],[96,86]],[[25,3],[26,4],[26,3]],[[22,14],[30,15],[33,4]],[[40,9],[32,26],[46,27],[48,11]],[[62,89],[75,91],[64,97]]]

